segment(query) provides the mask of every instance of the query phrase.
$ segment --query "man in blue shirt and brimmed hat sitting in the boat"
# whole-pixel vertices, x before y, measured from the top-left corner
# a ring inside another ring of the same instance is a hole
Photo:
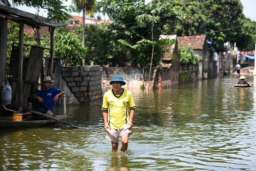
[[[52,87],[52,82],[54,81],[51,80],[50,76],[44,77],[44,81],[42,82],[44,84],[44,89],[36,92],[33,96],[28,97],[28,110],[31,110],[33,106],[35,109],[34,111],[40,113],[47,113],[49,109],[51,112],[53,112],[54,102],[58,101],[58,97],[65,94],[65,92],[58,88]],[[41,117],[34,113],[30,113],[29,111],[23,113],[23,115],[27,115],[23,121],[47,119],[46,117]]]

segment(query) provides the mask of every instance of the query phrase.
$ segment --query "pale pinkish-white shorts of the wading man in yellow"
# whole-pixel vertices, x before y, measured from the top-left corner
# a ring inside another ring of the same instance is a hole
[[[129,129],[129,125],[121,127],[120,129],[108,129],[106,139],[112,141],[114,143],[118,142],[118,138],[122,137],[125,133],[129,133],[131,135],[132,131]]]

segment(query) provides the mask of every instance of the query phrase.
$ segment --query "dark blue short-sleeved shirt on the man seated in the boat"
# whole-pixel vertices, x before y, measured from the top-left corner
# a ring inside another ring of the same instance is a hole
[[[42,97],[42,99],[44,100],[42,105],[44,105],[45,107],[47,107],[48,109],[51,110],[51,112],[53,111],[53,105],[54,105],[54,97],[56,94],[60,93],[60,89],[55,88],[55,87],[50,87],[47,91],[45,89],[42,89],[38,92],[36,92],[35,94],[37,96]]]

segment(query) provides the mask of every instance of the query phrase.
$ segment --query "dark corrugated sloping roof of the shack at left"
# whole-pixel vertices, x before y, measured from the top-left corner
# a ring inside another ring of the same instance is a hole
[[[17,18],[23,19],[25,24],[30,25],[32,27],[36,26],[47,26],[50,28],[57,28],[66,26],[66,23],[57,22],[57,21],[49,21],[47,18],[38,16],[29,12],[25,12],[22,10],[18,10],[17,8],[12,8],[10,6],[5,5],[0,0],[0,13],[5,15],[8,20],[13,20],[14,22],[17,22]],[[14,16],[16,18],[12,18],[11,16]]]

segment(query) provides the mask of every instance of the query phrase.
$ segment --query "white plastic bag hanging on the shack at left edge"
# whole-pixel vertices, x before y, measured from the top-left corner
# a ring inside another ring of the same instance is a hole
[[[11,104],[12,101],[12,87],[8,80],[2,82],[2,105]]]

